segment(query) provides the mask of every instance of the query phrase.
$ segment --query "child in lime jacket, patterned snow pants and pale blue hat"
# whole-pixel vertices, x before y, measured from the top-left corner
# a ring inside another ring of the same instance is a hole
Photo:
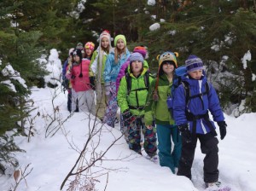
[[[148,67],[143,67],[143,55],[132,53],[130,66],[128,67],[129,80],[131,80],[131,90],[127,86],[127,78],[121,79],[118,91],[118,103],[123,114],[125,129],[128,130],[129,148],[137,153],[141,153],[141,130],[144,135],[144,149],[149,158],[156,155],[156,135],[152,128],[147,128],[144,124],[144,107],[148,89],[145,84],[144,75]],[[128,74],[126,74],[128,75]],[[148,76],[149,83],[153,80]]]

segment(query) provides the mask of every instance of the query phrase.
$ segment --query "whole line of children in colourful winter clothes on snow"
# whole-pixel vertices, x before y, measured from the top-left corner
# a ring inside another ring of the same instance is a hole
[[[201,59],[190,55],[185,61],[187,73],[172,95],[172,116],[166,100],[173,93],[177,53],[167,51],[159,56],[159,69],[154,78],[145,61],[147,49],[137,46],[130,53],[124,35],[114,38],[112,48],[111,36],[104,31],[99,38],[99,47],[95,51],[94,48],[94,43],[88,42],[84,47],[78,44],[76,49],[69,51],[70,56],[63,67],[63,75],[71,82],[68,96],[71,101],[68,103],[72,104],[68,110],[92,113],[102,123],[114,127],[120,107],[120,127],[129,148],[142,154],[143,147],[148,159],[152,160],[158,159],[158,150],[161,166],[189,179],[199,139],[201,152],[206,154],[206,186],[219,188],[218,139],[208,111],[218,123],[221,139],[226,135],[227,125],[217,93],[203,72]]]

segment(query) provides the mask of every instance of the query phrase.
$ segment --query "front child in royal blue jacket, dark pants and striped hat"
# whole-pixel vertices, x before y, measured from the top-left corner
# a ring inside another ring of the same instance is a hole
[[[182,84],[175,90],[173,117],[182,134],[183,148],[178,176],[191,179],[191,167],[195,156],[197,139],[201,142],[204,159],[204,182],[206,187],[220,188],[218,182],[218,139],[214,123],[209,119],[208,111],[218,123],[220,138],[226,135],[224,114],[219,105],[218,96],[212,84],[203,75],[203,62],[195,55],[189,55],[185,61],[188,75],[182,77]],[[189,87],[186,89],[185,87]],[[186,90],[185,90],[186,89]],[[189,90],[189,96],[188,94]]]

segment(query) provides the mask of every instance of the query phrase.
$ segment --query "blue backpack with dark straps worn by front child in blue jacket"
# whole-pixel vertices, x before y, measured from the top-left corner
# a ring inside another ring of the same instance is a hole
[[[183,88],[185,90],[185,96],[186,96],[186,105],[188,104],[190,99],[193,99],[195,97],[204,95],[209,93],[209,84],[206,84],[206,92],[202,93],[201,95],[195,95],[190,96],[190,90],[189,90],[189,84],[187,82],[182,81],[182,77],[187,74],[187,68],[185,66],[177,67],[175,70],[173,79],[172,79],[172,88],[171,88],[171,94],[167,96],[167,107],[171,113],[171,116],[173,118],[173,96],[175,94],[175,90],[180,84],[183,84]],[[205,73],[204,73],[205,74]]]

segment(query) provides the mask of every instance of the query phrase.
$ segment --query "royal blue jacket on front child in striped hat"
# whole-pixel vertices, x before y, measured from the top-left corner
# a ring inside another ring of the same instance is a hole
[[[182,81],[189,83],[190,96],[195,96],[200,93],[206,92],[206,76],[202,76],[201,80],[196,80],[189,78],[188,76],[182,77]],[[174,100],[173,100],[173,117],[177,125],[188,124],[189,130],[192,132],[193,121],[188,121],[186,118],[185,111],[188,109],[190,113],[194,115],[202,115],[207,113],[209,110],[212,113],[213,120],[224,121],[224,114],[219,105],[218,96],[214,90],[212,84],[209,84],[209,93],[200,97],[195,97],[188,101],[186,106],[186,96],[183,85],[179,85],[175,90]],[[214,123],[211,121],[214,128]],[[210,127],[207,125],[205,119],[196,119],[196,133],[197,134],[206,134],[210,131]]]

